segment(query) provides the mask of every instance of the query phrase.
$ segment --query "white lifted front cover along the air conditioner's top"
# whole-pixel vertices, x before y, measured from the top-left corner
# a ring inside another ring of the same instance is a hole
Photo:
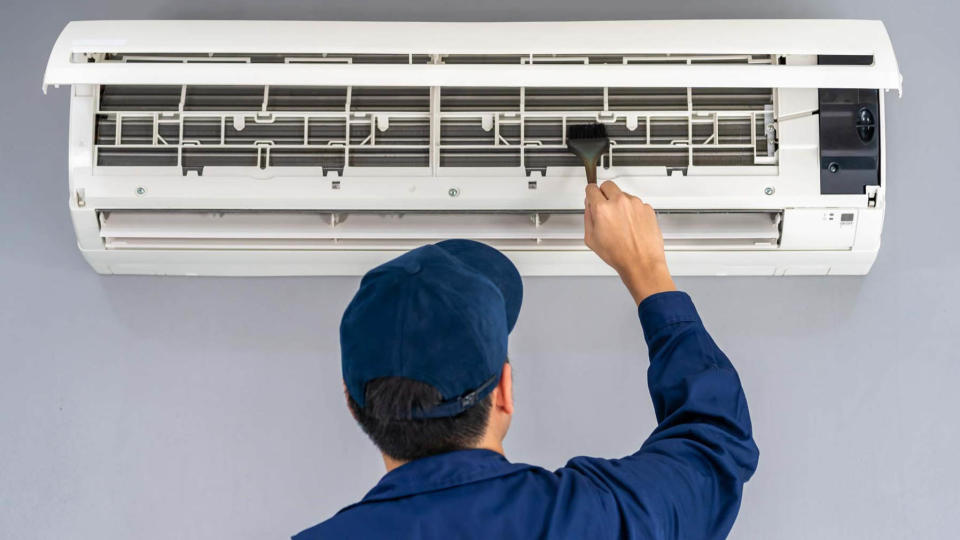
[[[583,35],[591,39],[570,39]],[[678,54],[686,57],[662,61]],[[725,59],[774,55],[835,62]],[[81,21],[61,33],[43,84],[577,83],[899,89],[900,74],[879,21]]]

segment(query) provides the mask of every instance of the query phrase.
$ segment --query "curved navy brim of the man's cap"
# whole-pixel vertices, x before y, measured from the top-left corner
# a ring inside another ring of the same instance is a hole
[[[520,279],[520,272],[513,262],[499,250],[474,240],[444,240],[435,245],[479,272],[500,289],[507,309],[507,331],[512,331],[523,302],[523,280]]]

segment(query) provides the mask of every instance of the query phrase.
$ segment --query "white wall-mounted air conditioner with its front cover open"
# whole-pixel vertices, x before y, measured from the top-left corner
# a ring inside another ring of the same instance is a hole
[[[360,274],[447,237],[606,274],[565,127],[657,209],[678,275],[864,274],[885,206],[877,21],[85,21],[69,206],[101,273]]]

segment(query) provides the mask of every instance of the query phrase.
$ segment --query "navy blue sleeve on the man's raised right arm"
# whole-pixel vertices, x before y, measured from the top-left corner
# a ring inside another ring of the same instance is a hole
[[[725,538],[759,457],[740,379],[686,293],[652,295],[638,310],[658,425],[631,456],[566,469],[611,501],[621,538]]]

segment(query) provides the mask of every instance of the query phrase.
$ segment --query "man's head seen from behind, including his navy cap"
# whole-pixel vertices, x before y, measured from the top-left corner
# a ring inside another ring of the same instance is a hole
[[[364,276],[340,323],[344,386],[386,456],[500,448],[522,290],[509,259],[469,240],[423,246]]]

